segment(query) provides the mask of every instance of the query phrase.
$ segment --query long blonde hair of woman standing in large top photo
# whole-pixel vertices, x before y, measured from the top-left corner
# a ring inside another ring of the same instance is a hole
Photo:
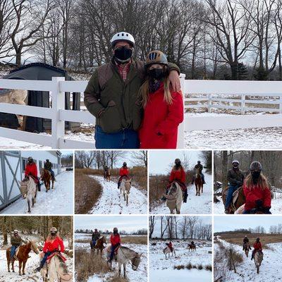
[[[170,81],[168,79],[168,75],[164,78],[164,101],[167,104],[172,104],[173,98],[171,96],[171,90],[170,90]],[[147,105],[149,102],[149,78],[145,80],[145,82],[141,85],[139,90],[139,95],[141,97],[141,104],[143,108]]]

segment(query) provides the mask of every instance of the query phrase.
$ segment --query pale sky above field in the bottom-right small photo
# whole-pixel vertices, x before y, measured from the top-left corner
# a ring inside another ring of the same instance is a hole
[[[214,216],[214,232],[249,229],[257,226],[263,226],[268,232],[271,225],[278,225],[281,222],[282,216]]]

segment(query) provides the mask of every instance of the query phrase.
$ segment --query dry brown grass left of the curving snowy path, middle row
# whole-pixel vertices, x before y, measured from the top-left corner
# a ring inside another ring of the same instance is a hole
[[[75,214],[87,214],[102,194],[102,186],[92,174],[90,168],[75,168]]]

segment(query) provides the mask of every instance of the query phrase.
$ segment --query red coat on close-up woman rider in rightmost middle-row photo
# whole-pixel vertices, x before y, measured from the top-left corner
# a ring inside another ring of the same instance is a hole
[[[262,200],[262,207],[271,207],[271,192],[269,189],[262,190],[259,185],[248,188],[244,183],[243,190],[246,198],[245,210],[254,209],[257,200]]]

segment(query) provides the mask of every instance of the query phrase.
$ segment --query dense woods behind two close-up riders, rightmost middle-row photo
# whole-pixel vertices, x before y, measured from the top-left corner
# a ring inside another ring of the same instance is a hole
[[[252,161],[259,161],[270,185],[279,188],[282,185],[281,157],[279,151],[214,151],[214,182],[220,181],[226,187],[228,169],[232,168],[234,159],[240,162],[239,168],[245,176],[250,172]]]

